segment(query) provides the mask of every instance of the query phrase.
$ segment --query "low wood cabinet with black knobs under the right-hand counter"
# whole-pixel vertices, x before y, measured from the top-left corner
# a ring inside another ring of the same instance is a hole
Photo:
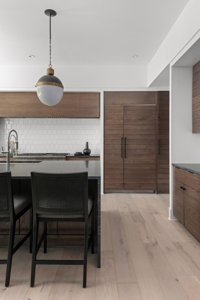
[[[200,175],[173,167],[173,214],[200,241]]]

